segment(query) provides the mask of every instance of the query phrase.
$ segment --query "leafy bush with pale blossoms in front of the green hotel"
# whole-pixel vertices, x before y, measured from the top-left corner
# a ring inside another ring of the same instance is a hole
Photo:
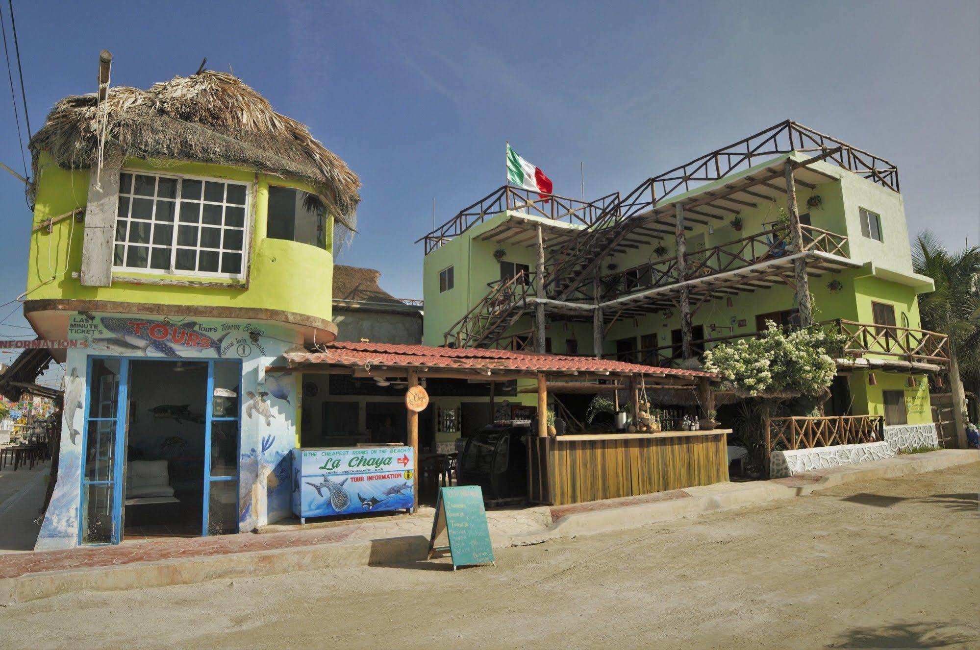
[[[758,339],[705,352],[705,370],[742,395],[823,395],[837,372],[830,352],[843,346],[844,337],[816,328],[787,334],[772,321],[766,328]]]

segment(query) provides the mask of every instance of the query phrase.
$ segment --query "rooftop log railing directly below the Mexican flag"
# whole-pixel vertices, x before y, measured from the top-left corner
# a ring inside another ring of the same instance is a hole
[[[557,194],[542,195],[519,187],[505,185],[471,206],[460,210],[453,218],[418,239],[416,243],[424,241],[425,255],[428,255],[487,218],[509,209],[525,212],[531,216],[588,226],[603,210],[614,205],[618,200],[618,192],[586,203]]]

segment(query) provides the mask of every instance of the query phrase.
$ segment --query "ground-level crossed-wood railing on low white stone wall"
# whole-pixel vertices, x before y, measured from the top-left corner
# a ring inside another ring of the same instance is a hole
[[[771,453],[784,449],[882,441],[884,425],[885,419],[880,415],[775,417],[763,423],[762,433],[765,448]]]

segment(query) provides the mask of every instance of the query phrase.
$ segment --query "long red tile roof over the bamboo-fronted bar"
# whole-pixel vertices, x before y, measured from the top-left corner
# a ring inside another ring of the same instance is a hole
[[[613,374],[666,375],[673,377],[711,377],[717,375],[703,370],[683,370],[626,363],[591,356],[563,356],[507,349],[430,348],[384,343],[337,342],[322,346],[319,351],[295,351],[284,354],[290,364],[329,363],[364,367],[426,366],[443,369],[493,369],[532,372],[610,372]]]

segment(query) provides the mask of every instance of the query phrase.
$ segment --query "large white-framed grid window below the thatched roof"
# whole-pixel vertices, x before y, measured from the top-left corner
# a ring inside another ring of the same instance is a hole
[[[245,183],[123,171],[113,268],[242,277],[248,202]]]

